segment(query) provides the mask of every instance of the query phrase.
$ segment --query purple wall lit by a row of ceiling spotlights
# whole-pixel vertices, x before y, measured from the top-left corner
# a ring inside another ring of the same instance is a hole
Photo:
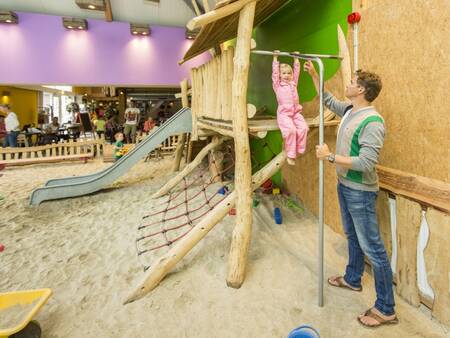
[[[151,26],[135,37],[123,22],[88,20],[88,31],[68,31],[58,16],[18,13],[0,24],[0,84],[178,86],[204,54],[178,66],[192,41],[184,28]]]

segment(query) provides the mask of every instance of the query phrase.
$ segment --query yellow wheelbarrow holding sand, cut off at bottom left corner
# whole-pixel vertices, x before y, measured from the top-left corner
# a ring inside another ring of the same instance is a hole
[[[0,338],[40,338],[41,327],[32,319],[51,294],[51,289],[0,293]]]

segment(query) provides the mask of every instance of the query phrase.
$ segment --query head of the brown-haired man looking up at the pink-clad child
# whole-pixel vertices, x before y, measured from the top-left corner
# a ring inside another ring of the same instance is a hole
[[[345,88],[345,96],[349,99],[361,97],[370,103],[378,97],[381,88],[381,78],[377,74],[357,71],[356,76]]]

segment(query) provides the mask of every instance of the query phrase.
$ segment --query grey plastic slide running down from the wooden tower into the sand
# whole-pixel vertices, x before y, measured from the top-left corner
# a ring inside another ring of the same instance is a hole
[[[47,200],[83,196],[101,190],[125,174],[169,136],[189,133],[191,129],[191,109],[182,108],[110,167],[91,175],[50,180],[44,187],[37,188],[31,193],[30,205],[39,205]]]

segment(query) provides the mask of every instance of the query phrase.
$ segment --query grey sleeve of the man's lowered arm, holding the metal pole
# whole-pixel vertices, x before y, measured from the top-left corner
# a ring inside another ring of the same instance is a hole
[[[378,163],[380,150],[384,143],[384,124],[371,122],[359,135],[359,155],[352,156],[352,169],[362,172],[373,171]]]

